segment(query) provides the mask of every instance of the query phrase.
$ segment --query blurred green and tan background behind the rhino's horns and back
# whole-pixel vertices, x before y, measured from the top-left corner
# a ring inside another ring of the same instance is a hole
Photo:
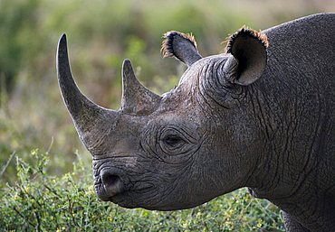
[[[53,175],[69,172],[76,153],[91,162],[57,84],[55,53],[63,32],[81,90],[103,107],[118,108],[125,58],[158,94],[177,85],[186,67],[162,58],[164,32],[192,32],[207,56],[223,52],[221,42],[243,25],[260,30],[334,10],[330,0],[0,0],[0,187],[16,180],[14,156],[34,162],[34,148],[50,154]]]

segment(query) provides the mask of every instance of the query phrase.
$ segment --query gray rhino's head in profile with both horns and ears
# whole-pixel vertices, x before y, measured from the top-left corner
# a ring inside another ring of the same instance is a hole
[[[191,35],[165,34],[162,51],[187,64],[177,88],[158,96],[123,62],[119,110],[82,95],[66,37],[57,52],[62,97],[93,158],[101,200],[126,208],[187,209],[246,186],[256,168],[260,128],[248,103],[266,65],[266,36],[242,29],[225,54],[202,58]]]

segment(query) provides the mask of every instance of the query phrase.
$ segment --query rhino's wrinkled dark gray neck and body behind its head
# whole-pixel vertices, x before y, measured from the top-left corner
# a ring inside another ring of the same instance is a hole
[[[265,31],[268,64],[251,99],[266,141],[248,184],[256,197],[320,229],[335,227],[335,42],[334,23],[313,17]]]

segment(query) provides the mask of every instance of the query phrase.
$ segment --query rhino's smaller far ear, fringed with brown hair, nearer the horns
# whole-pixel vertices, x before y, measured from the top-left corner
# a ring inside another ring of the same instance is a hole
[[[175,57],[191,66],[202,57],[196,49],[196,40],[192,34],[182,32],[166,32],[163,36],[162,51],[164,57]]]

